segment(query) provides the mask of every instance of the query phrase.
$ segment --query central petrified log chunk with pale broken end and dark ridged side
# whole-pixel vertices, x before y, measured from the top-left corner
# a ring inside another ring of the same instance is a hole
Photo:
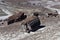
[[[37,16],[30,16],[22,22],[25,32],[30,32],[31,30],[34,30],[34,27],[40,26],[40,24],[40,20]]]

